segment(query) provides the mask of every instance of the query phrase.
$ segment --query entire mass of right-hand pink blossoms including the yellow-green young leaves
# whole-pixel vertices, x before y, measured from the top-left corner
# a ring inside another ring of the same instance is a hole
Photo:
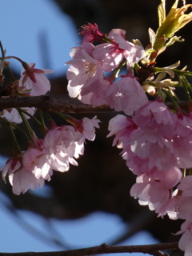
[[[138,198],[141,205],[155,210],[158,216],[168,214],[171,219],[186,219],[177,234],[184,233],[179,247],[185,250],[185,255],[190,255],[192,186],[191,176],[183,178],[183,171],[192,168],[192,109],[191,99],[188,114],[177,106],[174,86],[191,86],[182,72],[176,73],[180,82],[162,80],[166,73],[174,78],[173,69],[178,63],[162,69],[154,67],[158,54],[179,41],[174,33],[184,26],[183,19],[185,24],[191,20],[191,14],[183,15],[190,5],[176,9],[177,5],[178,1],[167,17],[163,1],[158,7],[159,14],[162,13],[160,27],[157,34],[150,30],[149,53],[137,40],[134,40],[135,44],[126,41],[124,30],[115,29],[103,34],[96,24],[89,23],[82,26],[82,44],[72,50],[70,56],[73,59],[66,64],[70,65],[67,71],[70,97],[78,97],[92,106],[108,105],[132,115],[127,118],[118,114],[112,118],[108,135],[115,135],[113,146],[122,149],[126,166],[138,176],[130,194]],[[177,19],[174,29],[166,25],[171,18]],[[100,44],[94,46],[95,41]],[[118,77],[124,65],[126,74]],[[156,72],[160,74],[154,78]],[[156,100],[149,101],[145,92],[157,96]],[[174,111],[163,103],[167,96],[174,102]]]

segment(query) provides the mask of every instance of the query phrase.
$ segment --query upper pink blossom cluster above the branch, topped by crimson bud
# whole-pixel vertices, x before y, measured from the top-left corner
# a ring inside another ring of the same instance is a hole
[[[145,57],[145,50],[126,41],[124,30],[114,29],[105,35],[99,30],[95,32],[92,26],[84,27],[82,45],[73,48],[70,53],[73,59],[66,62],[70,65],[66,74],[70,97],[78,97],[92,106],[109,105],[116,111],[133,114],[147,102],[138,79],[132,72],[122,75],[118,81],[114,75],[109,77],[107,74],[115,69],[117,72],[124,60],[130,70],[134,63]],[[94,30],[92,36],[91,30]],[[94,40],[102,43],[94,46]]]

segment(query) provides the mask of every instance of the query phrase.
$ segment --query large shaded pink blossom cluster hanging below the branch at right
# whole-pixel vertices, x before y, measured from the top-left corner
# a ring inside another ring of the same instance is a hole
[[[185,232],[179,247],[188,255],[192,177],[182,178],[182,170],[192,168],[192,114],[174,114],[162,102],[147,102],[133,118],[112,118],[109,130],[108,137],[115,135],[113,145],[122,149],[126,165],[138,176],[130,195],[158,216],[186,219],[177,234]]]

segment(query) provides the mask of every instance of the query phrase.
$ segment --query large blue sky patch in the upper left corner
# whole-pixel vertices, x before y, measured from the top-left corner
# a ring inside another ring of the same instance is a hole
[[[6,54],[35,62],[39,68],[53,69],[54,75],[63,74],[70,48],[80,41],[70,17],[51,0],[1,0],[0,8],[1,41]],[[42,54],[46,47],[48,63]],[[16,60],[11,63],[21,69]]]

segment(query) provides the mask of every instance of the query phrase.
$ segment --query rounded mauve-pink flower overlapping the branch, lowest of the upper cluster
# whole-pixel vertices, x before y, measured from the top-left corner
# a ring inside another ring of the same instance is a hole
[[[116,111],[124,111],[127,115],[134,114],[140,106],[148,102],[142,86],[136,78],[122,76],[114,82],[107,91],[107,102]]]

